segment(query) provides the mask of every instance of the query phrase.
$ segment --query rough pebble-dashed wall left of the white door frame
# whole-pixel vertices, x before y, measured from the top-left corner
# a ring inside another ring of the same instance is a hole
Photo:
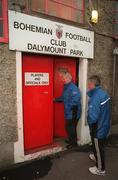
[[[9,9],[20,11],[9,1]],[[25,1],[19,1],[21,7]],[[0,168],[14,163],[14,142],[18,140],[16,107],[16,53],[0,43]]]

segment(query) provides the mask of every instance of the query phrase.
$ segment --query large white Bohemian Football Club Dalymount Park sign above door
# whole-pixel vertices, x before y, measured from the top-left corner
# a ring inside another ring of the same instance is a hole
[[[93,58],[94,32],[9,11],[11,50]]]

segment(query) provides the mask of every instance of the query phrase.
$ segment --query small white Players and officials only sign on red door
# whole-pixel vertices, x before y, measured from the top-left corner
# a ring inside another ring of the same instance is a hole
[[[25,86],[49,85],[49,73],[25,73]]]

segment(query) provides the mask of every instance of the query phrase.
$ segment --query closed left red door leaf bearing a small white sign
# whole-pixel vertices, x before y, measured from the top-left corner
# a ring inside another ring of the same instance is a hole
[[[23,55],[23,116],[25,150],[53,142],[53,61]]]

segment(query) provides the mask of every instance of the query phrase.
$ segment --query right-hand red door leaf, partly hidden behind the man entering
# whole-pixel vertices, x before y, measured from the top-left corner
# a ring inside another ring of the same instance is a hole
[[[76,60],[72,58],[55,58],[54,61],[54,98],[62,95],[63,82],[59,77],[58,68],[64,67],[72,74],[73,81],[76,80]],[[66,137],[64,105],[63,103],[54,103],[54,137]]]

